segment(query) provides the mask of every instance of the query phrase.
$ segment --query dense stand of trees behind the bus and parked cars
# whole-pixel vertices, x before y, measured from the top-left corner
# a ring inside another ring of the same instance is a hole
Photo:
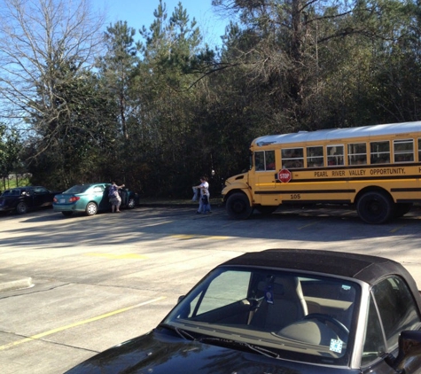
[[[408,0],[213,0],[211,48],[179,3],[103,30],[89,0],[2,0],[0,175],[212,192],[257,136],[417,121],[421,6]]]

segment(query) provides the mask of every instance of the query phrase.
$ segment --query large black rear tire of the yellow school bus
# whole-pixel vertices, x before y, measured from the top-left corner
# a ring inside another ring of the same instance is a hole
[[[394,201],[385,192],[368,191],[358,199],[356,211],[364,222],[386,223],[394,215]]]

